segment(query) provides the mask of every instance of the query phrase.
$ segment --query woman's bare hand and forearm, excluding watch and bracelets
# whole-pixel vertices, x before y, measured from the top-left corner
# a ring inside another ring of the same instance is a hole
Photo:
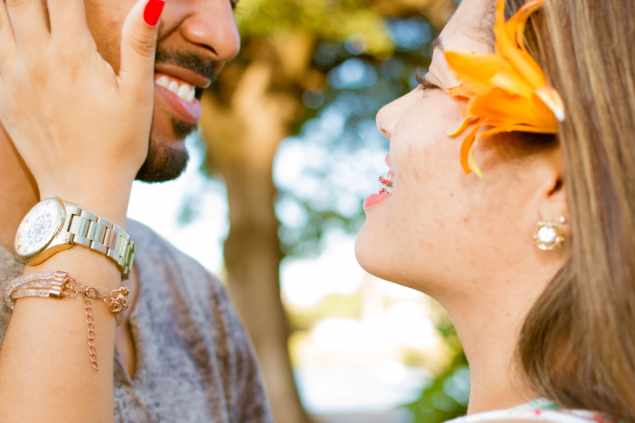
[[[55,193],[125,225],[147,154],[162,8],[163,0],[133,6],[116,74],[97,52],[84,0],[48,0],[48,10],[43,0],[0,0],[0,122],[41,197]],[[81,247],[25,269],[55,270],[105,292],[121,284],[111,261]],[[17,301],[0,353],[2,422],[113,421],[115,318],[98,301],[91,309],[99,372],[90,365],[81,297]]]

